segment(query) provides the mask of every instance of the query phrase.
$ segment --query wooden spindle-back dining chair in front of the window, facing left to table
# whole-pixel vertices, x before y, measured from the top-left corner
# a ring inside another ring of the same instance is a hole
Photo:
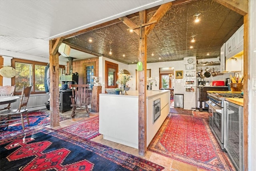
[[[31,89],[32,89],[32,86],[22,88],[20,105],[18,109],[9,109],[9,110],[0,112],[0,125],[7,125],[6,127],[7,129],[11,122],[21,120],[22,128],[24,130],[25,118],[27,119],[28,125],[29,125],[29,119],[28,119],[28,113],[27,113],[28,109],[26,109],[26,107],[28,104],[28,99],[30,97]],[[26,115],[26,117],[24,117],[23,115]]]

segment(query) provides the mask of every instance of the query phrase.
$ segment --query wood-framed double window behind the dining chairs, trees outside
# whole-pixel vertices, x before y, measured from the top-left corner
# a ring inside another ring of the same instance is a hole
[[[43,62],[12,59],[12,67],[16,69],[16,76],[12,78],[12,85],[16,85],[15,94],[21,94],[22,87],[30,85],[33,85],[31,93],[45,93],[44,70],[46,65],[47,63]]]

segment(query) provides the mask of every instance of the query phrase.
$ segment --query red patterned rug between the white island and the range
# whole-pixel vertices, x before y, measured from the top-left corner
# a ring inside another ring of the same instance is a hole
[[[168,115],[148,150],[210,171],[233,170],[206,121]]]

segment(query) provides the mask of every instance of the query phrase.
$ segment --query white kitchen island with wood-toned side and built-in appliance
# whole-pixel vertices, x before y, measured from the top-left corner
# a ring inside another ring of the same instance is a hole
[[[99,133],[104,139],[138,149],[138,91],[127,93],[100,94]],[[160,116],[154,121],[153,101],[157,99],[160,99]],[[170,111],[170,90],[147,90],[146,110],[148,146]]]

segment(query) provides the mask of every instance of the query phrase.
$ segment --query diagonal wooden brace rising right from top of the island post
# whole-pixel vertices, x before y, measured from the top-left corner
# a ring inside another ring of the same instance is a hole
[[[155,12],[155,14],[150,18],[150,20],[148,21],[148,23],[156,21],[153,24],[150,24],[148,26],[146,26],[146,35],[148,35],[151,30],[154,29],[154,27],[156,26],[156,24],[159,22],[159,20],[164,16],[164,14],[166,14],[166,12],[171,8],[172,6],[172,2],[168,2],[166,4],[162,4],[158,10]]]

